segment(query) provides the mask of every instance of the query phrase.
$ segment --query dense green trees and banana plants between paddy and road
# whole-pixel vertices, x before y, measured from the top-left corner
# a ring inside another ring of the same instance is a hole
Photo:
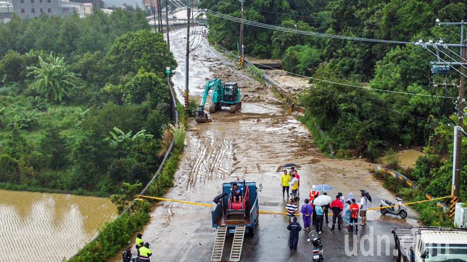
[[[0,187],[108,196],[149,182],[170,124],[161,70],[177,64],[148,29],[139,9],[0,25]]]

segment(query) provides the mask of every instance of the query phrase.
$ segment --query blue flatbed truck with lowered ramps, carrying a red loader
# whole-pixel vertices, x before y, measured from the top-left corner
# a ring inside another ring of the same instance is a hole
[[[227,196],[211,211],[212,227],[217,228],[216,240],[212,250],[212,262],[222,261],[224,242],[229,234],[233,235],[232,251],[229,261],[240,261],[244,235],[255,235],[258,225],[258,191],[255,182],[237,179],[222,184],[222,193]]]

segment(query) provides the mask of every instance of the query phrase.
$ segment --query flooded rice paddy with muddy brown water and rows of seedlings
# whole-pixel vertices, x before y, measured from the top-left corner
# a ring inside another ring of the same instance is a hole
[[[68,259],[116,211],[103,198],[0,190],[0,261]]]

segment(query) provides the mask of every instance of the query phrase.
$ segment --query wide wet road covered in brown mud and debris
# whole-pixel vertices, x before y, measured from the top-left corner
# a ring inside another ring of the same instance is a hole
[[[184,89],[185,34],[179,30],[170,35],[170,47],[179,64],[173,77],[179,100]],[[347,196],[353,192],[354,198],[359,200],[359,189],[367,190],[373,198],[369,207],[379,207],[380,198],[394,200],[394,196],[382,189],[369,173],[375,165],[361,159],[327,159],[312,144],[312,137],[304,125],[280,107],[268,88],[236,70],[232,62],[209,47],[205,40],[191,54],[190,68],[191,97],[200,100],[205,81],[219,77],[223,82],[237,82],[244,102],[236,114],[223,110],[211,114],[212,122],[205,124],[191,120],[185,152],[175,174],[175,186],[166,198],[211,204],[212,199],[221,193],[222,183],[241,178],[263,184],[264,189],[258,197],[260,210],[284,212],[287,198],[282,196],[280,167],[295,163],[299,165],[301,181],[300,205],[308,197],[311,186],[323,182],[333,186],[334,189],[328,192],[330,196],[338,192]],[[325,260],[392,261],[394,243],[389,241],[392,239],[390,228],[416,225],[416,218],[417,214],[411,210],[407,219],[368,211],[368,225],[360,228],[358,234],[345,229],[331,232],[331,224],[325,224]],[[303,226],[302,219],[298,221]],[[298,249],[291,251],[287,225],[284,215],[260,214],[255,236],[245,238],[241,261],[311,260],[312,247],[306,241],[308,232],[300,233]],[[150,243],[156,261],[210,261],[215,238],[211,208],[160,202],[142,234],[143,241]],[[366,234],[373,234],[375,241],[361,242]],[[388,235],[388,241],[379,245],[376,241],[378,234]],[[223,260],[229,258],[231,243],[232,237],[226,240]],[[361,252],[370,250],[370,245],[374,249],[373,256],[363,256],[367,254]],[[346,254],[346,247],[351,251],[356,247],[356,255],[347,256],[354,253],[348,251]],[[389,247],[388,254],[386,247]],[[381,249],[382,254],[378,255],[377,251]]]

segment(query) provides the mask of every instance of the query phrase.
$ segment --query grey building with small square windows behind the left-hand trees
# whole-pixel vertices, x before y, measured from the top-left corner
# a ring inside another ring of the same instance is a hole
[[[14,13],[22,19],[37,17],[41,14],[68,16],[73,14],[74,7],[63,5],[62,0],[11,0]]]

